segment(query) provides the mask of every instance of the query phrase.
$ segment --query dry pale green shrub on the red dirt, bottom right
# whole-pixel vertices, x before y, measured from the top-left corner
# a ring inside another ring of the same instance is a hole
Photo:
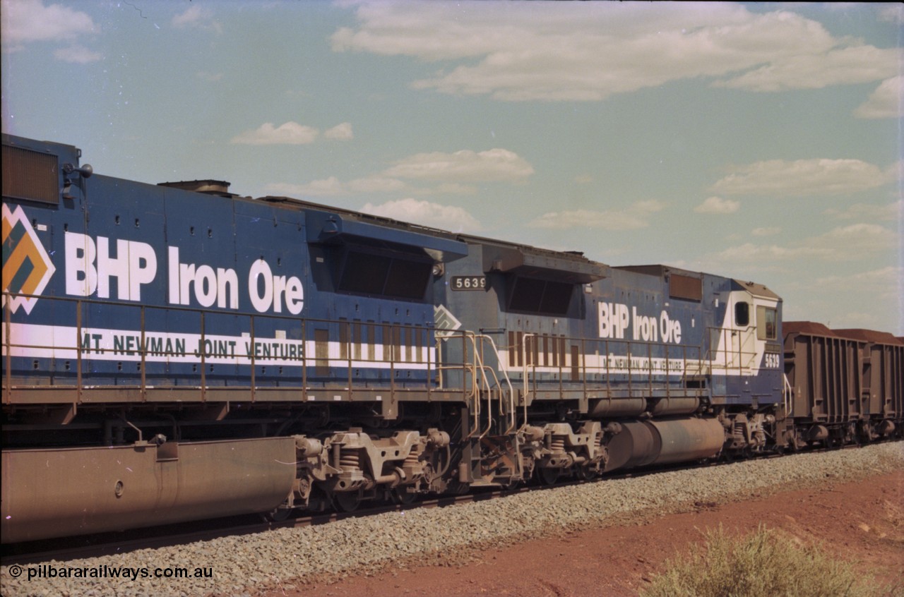
[[[665,563],[663,574],[641,594],[645,597],[873,597],[883,594],[819,546],[798,546],[775,530],[732,539],[720,526],[706,543]]]

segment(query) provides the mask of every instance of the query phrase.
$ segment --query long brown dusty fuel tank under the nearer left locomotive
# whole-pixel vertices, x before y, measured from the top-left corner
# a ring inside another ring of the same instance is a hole
[[[267,511],[292,490],[295,456],[294,437],[5,451],[2,540]]]

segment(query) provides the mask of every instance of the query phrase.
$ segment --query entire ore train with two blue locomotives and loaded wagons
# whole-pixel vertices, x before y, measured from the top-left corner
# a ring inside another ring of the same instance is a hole
[[[783,329],[784,326],[784,329]],[[904,428],[904,342],[607,266],[3,135],[4,543]]]

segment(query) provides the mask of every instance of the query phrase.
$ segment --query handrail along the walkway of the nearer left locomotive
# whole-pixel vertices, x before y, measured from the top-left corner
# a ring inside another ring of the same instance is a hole
[[[252,402],[276,390],[307,400],[327,387],[349,398],[364,390],[391,399],[475,393],[442,387],[428,326],[41,296],[52,303],[55,322],[74,322],[50,325],[14,315],[13,299],[20,296],[32,295],[4,293],[6,404],[14,402],[14,391],[48,387],[74,391],[77,402],[89,390],[114,387],[142,402],[156,390],[191,391],[200,402],[225,390],[246,390],[244,399]],[[462,378],[469,367],[464,361],[442,366],[462,370]]]

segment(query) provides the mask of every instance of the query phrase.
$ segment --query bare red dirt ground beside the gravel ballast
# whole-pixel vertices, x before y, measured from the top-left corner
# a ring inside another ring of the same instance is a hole
[[[464,563],[410,566],[337,583],[296,584],[266,597],[399,597],[400,595],[636,595],[666,559],[702,542],[720,524],[746,533],[763,524],[826,549],[904,586],[904,471],[857,482],[826,480],[729,504],[697,504],[683,514],[645,516],[614,527],[476,551]],[[291,586],[291,585],[290,585]]]

